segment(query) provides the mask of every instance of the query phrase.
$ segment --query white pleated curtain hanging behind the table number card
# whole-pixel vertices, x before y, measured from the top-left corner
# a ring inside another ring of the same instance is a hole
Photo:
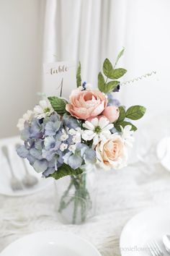
[[[123,2],[45,1],[43,61],[81,61],[83,80],[97,87],[97,74],[104,59],[113,61],[124,45]]]

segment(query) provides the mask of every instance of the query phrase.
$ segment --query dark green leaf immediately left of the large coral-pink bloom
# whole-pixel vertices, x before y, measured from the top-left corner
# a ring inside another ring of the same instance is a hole
[[[58,114],[63,115],[66,113],[66,104],[67,104],[66,100],[58,97],[48,97],[48,100],[50,101],[51,106],[53,106],[54,110]]]

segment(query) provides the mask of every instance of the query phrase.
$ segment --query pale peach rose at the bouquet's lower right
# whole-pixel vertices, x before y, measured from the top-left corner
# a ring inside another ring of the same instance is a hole
[[[119,169],[127,164],[127,153],[120,135],[110,135],[106,142],[100,142],[96,147],[97,162],[102,168]]]

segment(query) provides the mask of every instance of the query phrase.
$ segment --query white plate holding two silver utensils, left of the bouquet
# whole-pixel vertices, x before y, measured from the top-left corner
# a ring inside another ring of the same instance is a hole
[[[1,195],[8,195],[12,197],[18,197],[18,196],[25,196],[25,195],[31,195],[35,194],[35,192],[40,192],[42,189],[45,189],[45,187],[53,184],[53,179],[48,178],[48,179],[42,179],[42,174],[37,174],[34,168],[30,166],[30,163],[25,160],[25,164],[27,165],[27,170],[30,172],[30,174],[34,175],[38,179],[38,183],[35,184],[34,187],[24,187],[22,190],[18,191],[13,191],[12,188],[10,187],[10,179],[11,179],[11,173],[9,169],[9,164],[6,161],[6,158],[1,152],[1,147],[3,145],[6,145],[8,147],[9,151],[9,158],[10,162],[12,164],[12,168],[14,171],[15,176],[19,180],[22,180],[24,177],[25,171],[24,171],[24,165],[22,163],[22,159],[19,158],[17,155],[16,149],[14,145],[17,143],[23,143],[19,139],[19,137],[11,137],[8,139],[2,139],[0,140],[0,194]]]

